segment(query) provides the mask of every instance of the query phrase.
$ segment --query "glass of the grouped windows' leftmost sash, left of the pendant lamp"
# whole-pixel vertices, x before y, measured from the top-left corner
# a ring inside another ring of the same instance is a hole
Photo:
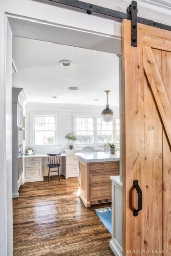
[[[76,135],[79,144],[94,143],[94,118],[76,117]]]

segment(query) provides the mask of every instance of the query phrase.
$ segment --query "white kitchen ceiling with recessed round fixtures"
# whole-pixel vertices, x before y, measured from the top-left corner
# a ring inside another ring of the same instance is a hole
[[[59,66],[62,59],[73,66]],[[109,103],[119,106],[116,54],[13,37],[13,60],[18,70],[12,75],[13,87],[24,88],[29,102],[104,105],[104,91],[111,90]],[[79,90],[68,90],[70,86]]]

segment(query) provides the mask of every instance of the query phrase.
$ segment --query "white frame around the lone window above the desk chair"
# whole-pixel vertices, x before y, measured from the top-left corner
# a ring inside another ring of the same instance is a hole
[[[35,116],[53,116],[55,117],[55,144],[51,145],[35,145]],[[31,111],[30,112],[30,146],[32,147],[53,147],[57,146],[57,134],[59,132],[59,114],[56,112],[42,112]]]

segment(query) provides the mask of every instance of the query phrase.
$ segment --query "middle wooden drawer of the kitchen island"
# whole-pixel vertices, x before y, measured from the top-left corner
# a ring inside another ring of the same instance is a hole
[[[110,176],[119,175],[119,170],[112,170],[110,172],[102,172],[102,173],[90,173],[89,174],[89,184],[95,184],[95,183],[106,183],[111,182]]]

